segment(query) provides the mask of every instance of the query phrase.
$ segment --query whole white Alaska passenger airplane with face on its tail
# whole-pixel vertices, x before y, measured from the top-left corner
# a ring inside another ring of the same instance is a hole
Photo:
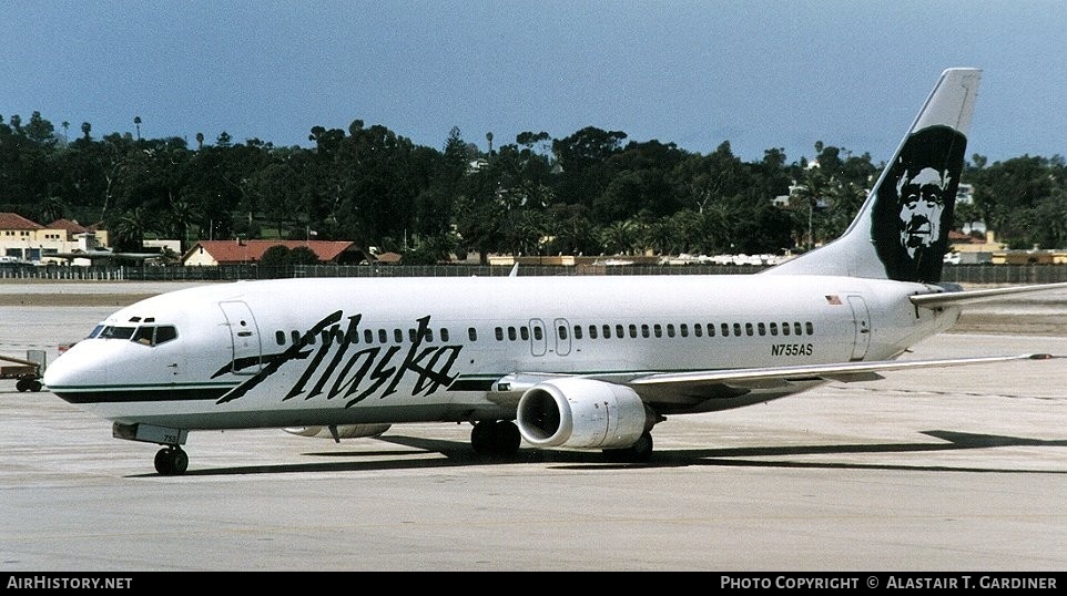
[[[651,456],[668,417],[741,408],[898,360],[967,304],[1067,287],[941,282],[980,71],[948,69],[847,230],[753,275],[276,279],[187,288],[102,321],[44,383],[161,445],[186,472],[190,431],[376,436],[470,423],[472,449]]]

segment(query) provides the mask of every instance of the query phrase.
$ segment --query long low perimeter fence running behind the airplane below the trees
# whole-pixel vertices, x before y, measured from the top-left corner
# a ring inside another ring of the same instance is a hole
[[[520,265],[517,275],[524,277],[559,275],[739,275],[754,274],[766,268],[766,266],[759,265]],[[510,274],[511,266],[505,265],[0,267],[0,280],[53,279],[75,281],[236,281],[286,277],[506,277]],[[942,281],[973,286],[1055,284],[1067,281],[1067,265],[946,265],[942,270]]]

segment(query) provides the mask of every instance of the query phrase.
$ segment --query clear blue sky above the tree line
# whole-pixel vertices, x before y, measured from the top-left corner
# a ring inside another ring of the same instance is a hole
[[[984,71],[968,156],[1067,155],[1061,0],[4,2],[0,114],[195,144],[383,124],[486,148],[585,126],[745,161],[888,160],[942,70]]]

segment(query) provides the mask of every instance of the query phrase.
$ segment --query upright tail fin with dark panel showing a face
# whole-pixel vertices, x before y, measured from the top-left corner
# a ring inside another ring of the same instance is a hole
[[[980,72],[943,72],[844,235],[766,273],[941,281]]]

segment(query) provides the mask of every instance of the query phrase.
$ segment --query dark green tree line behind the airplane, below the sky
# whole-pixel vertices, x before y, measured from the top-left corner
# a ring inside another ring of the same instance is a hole
[[[355,240],[405,263],[449,254],[782,254],[840,235],[884,164],[816,142],[811,160],[770,148],[758,162],[729,142],[709,154],[585,127],[524,132],[481,151],[453,129],[441,147],[383,125],[314,126],[308,147],[180,137],[94,137],[33,112],[0,115],[0,212],[109,230],[119,249],[149,237]],[[817,167],[812,165],[817,164]],[[982,220],[1013,248],[1067,247],[1064,157],[974,155],[957,229]],[[785,205],[775,197],[789,196]]]

